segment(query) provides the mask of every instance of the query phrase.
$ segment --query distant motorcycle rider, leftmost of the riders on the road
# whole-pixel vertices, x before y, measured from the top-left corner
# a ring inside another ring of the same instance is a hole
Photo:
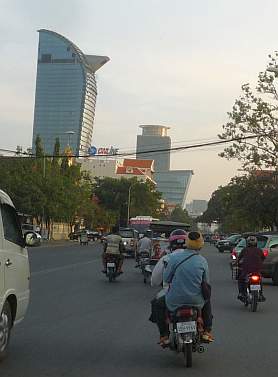
[[[122,237],[119,235],[119,227],[118,226],[113,226],[112,227],[112,232],[106,236],[106,242],[104,244],[104,251],[102,254],[102,263],[103,263],[103,273],[106,274],[106,264],[107,264],[107,259],[109,257],[113,256],[117,259],[117,272],[122,274],[122,266],[124,262],[124,256],[123,256],[123,242],[122,242]]]

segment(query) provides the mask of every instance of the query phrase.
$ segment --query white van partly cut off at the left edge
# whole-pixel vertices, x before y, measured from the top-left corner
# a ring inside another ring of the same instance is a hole
[[[29,303],[30,269],[20,222],[9,196],[0,190],[0,361],[6,356],[13,325],[20,322]]]

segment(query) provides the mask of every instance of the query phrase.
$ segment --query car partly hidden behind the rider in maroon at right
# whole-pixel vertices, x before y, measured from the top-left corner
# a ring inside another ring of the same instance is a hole
[[[262,249],[265,260],[263,262],[262,276],[271,278],[274,285],[278,285],[278,233],[254,233],[258,240],[258,247]],[[246,247],[248,235],[242,237],[231,254],[231,266],[235,265],[240,252]]]

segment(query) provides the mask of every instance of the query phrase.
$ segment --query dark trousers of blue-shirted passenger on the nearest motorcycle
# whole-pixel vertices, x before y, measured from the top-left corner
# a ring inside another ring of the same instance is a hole
[[[165,302],[165,296],[160,298],[155,298],[151,302],[152,305],[152,313],[150,316],[150,321],[157,324],[159,329],[160,336],[168,336],[169,335],[169,325],[167,322],[167,306]],[[202,308],[202,318],[204,321],[204,329],[210,331],[212,328],[212,310],[211,310],[211,302],[207,300],[205,305]]]

